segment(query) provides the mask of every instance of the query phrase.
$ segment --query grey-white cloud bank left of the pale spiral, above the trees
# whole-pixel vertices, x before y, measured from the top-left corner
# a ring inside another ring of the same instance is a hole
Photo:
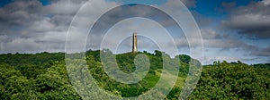
[[[85,1],[14,1],[0,8],[0,53],[64,51],[67,28]]]

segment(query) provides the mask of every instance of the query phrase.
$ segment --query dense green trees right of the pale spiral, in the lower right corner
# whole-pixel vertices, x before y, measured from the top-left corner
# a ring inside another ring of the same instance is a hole
[[[269,69],[240,62],[214,63],[203,67],[201,79],[190,98],[269,99],[269,85]]]

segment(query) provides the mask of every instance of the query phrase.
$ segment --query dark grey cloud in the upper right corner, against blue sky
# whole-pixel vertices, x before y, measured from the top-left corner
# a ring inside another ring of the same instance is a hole
[[[240,35],[248,38],[270,38],[270,4],[268,0],[252,2],[232,10],[228,21],[223,25],[236,29]]]

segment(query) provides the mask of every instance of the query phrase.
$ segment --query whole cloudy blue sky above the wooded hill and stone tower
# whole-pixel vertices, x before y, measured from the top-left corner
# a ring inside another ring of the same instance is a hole
[[[83,44],[86,49],[107,47],[113,53],[125,53],[130,52],[131,35],[136,31],[139,34],[139,51],[153,53],[160,49],[174,56],[172,51],[176,47],[177,54],[191,55],[190,45],[199,46],[198,42],[201,41],[195,37],[187,39],[187,33],[179,29],[174,20],[155,9],[185,12],[181,4],[175,1],[1,0],[0,54],[65,52],[68,32],[74,33],[69,36],[71,48],[80,46],[78,44],[82,43],[76,40],[86,35],[86,43]],[[129,4],[112,9],[113,6],[131,2],[154,7]],[[181,2],[191,12],[201,31],[204,56],[198,59],[203,59],[203,64],[224,60],[248,64],[270,63],[270,0]],[[85,11],[80,10],[82,8]],[[101,9],[110,11],[101,14]],[[78,14],[80,12],[85,14]],[[99,20],[95,20],[97,17],[100,17]],[[179,19],[185,20],[181,16]],[[90,24],[94,24],[93,29],[87,26]],[[73,29],[79,26],[80,29]]]

